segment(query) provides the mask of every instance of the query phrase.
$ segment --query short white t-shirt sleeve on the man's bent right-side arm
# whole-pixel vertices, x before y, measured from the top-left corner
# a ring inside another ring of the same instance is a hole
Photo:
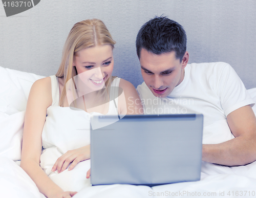
[[[229,64],[220,69],[218,77],[217,94],[226,116],[242,106],[254,105],[242,80]]]

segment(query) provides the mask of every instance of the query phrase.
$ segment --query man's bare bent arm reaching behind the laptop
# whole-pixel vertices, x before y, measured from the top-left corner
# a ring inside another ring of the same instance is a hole
[[[239,166],[256,160],[256,118],[250,105],[227,116],[235,138],[220,144],[204,144],[202,160],[227,166]]]

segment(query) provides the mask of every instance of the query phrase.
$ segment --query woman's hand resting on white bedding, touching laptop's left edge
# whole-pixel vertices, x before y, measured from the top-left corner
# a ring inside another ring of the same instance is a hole
[[[58,173],[66,170],[70,163],[69,170],[72,170],[75,165],[81,161],[90,159],[90,145],[69,150],[64,155],[59,157],[52,167],[52,171],[58,170]]]

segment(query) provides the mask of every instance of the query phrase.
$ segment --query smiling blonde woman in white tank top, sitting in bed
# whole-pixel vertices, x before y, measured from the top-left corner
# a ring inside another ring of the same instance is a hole
[[[143,113],[134,86],[112,77],[114,44],[101,20],[75,24],[56,76],[31,87],[20,166],[49,198],[90,185],[92,115]]]

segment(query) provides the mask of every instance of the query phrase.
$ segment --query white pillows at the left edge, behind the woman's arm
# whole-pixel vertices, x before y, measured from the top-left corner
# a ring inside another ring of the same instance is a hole
[[[43,77],[0,67],[0,157],[20,160],[29,91]]]

